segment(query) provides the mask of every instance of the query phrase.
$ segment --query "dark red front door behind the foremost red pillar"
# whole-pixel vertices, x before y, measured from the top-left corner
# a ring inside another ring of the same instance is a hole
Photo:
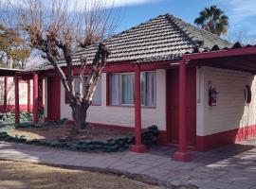
[[[178,69],[167,70],[166,74],[166,115],[167,115],[167,141],[178,144]],[[196,69],[187,68],[186,83],[186,127],[188,145],[195,146],[196,136]]]

